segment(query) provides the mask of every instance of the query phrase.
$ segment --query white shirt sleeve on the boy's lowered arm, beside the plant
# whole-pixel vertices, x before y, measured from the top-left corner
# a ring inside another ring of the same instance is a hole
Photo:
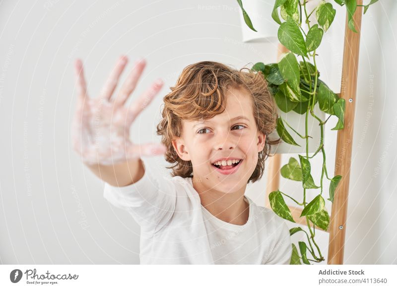
[[[281,219],[281,218],[280,218]],[[281,219],[282,223],[277,226],[277,242],[271,251],[270,258],[266,261],[267,264],[282,264],[289,265],[292,256],[292,243],[289,229],[285,220]]]

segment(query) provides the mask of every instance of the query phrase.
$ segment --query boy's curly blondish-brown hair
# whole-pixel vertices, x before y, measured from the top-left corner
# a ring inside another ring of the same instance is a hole
[[[193,177],[192,162],[181,159],[172,145],[174,138],[182,135],[182,120],[209,119],[222,113],[227,90],[245,88],[253,99],[258,131],[266,136],[265,147],[258,153],[257,166],[247,183],[262,178],[270,147],[280,142],[268,139],[276,126],[277,110],[262,72],[248,68],[238,71],[218,62],[203,61],[187,66],[170,88],[171,92],[164,96],[163,119],[157,125],[157,135],[162,136],[161,142],[167,147],[166,160],[173,164],[167,168],[172,168],[172,176]]]

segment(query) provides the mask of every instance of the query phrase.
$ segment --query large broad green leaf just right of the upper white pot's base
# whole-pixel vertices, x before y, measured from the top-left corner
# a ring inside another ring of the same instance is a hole
[[[278,40],[291,52],[307,57],[306,44],[298,25],[288,20],[280,25],[277,32]]]

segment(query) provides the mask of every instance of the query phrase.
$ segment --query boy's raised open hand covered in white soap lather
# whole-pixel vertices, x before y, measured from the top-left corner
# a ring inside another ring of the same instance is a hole
[[[90,98],[87,95],[82,62],[75,61],[78,98],[71,139],[73,149],[81,155],[85,164],[111,165],[166,151],[163,144],[133,144],[134,140],[130,140],[132,122],[152,101],[163,86],[163,81],[158,79],[153,82],[130,107],[126,107],[125,103],[146,65],[143,59],[136,61],[117,96],[112,97],[127,62],[126,56],[120,57],[99,97]]]

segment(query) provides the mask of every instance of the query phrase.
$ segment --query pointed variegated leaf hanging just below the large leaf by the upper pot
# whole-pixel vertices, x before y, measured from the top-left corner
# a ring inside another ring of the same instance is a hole
[[[295,55],[292,52],[287,53],[279,62],[278,69],[285,82],[292,88],[293,91],[298,92],[300,73],[299,65]]]

